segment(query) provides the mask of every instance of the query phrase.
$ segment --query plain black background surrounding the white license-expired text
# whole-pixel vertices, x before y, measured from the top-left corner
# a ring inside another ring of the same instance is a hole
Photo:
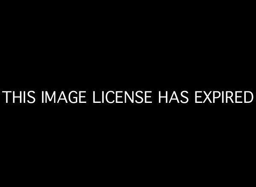
[[[247,7],[42,7],[3,13],[1,91],[152,90],[154,104],[2,102],[5,176],[131,184],[250,178],[255,101],[196,105],[193,96],[255,94]],[[183,90],[187,105],[157,104],[157,91]]]

